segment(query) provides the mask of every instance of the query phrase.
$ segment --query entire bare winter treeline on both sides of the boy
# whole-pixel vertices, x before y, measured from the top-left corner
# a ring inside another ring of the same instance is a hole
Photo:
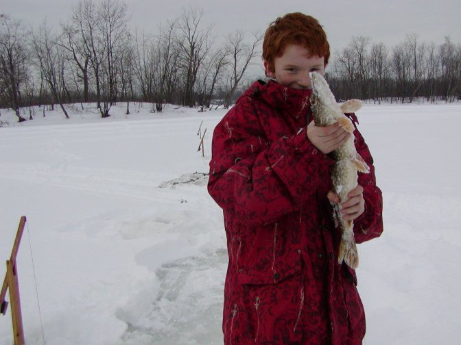
[[[165,103],[210,107],[213,99],[228,107],[251,82],[244,75],[261,56],[262,36],[236,30],[218,39],[203,16],[183,9],[150,33],[128,28],[120,0],[81,0],[58,29],[28,29],[0,14],[0,107],[20,121],[21,108],[33,116],[32,105],[58,105],[67,117],[67,103],[95,102],[103,117],[121,101],[151,103],[152,112]],[[354,37],[333,54],[327,79],[338,99],[457,101],[461,47],[413,34],[388,49]]]

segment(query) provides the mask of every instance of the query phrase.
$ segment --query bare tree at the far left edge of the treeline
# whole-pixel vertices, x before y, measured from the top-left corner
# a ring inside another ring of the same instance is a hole
[[[27,31],[19,21],[0,14],[0,94],[4,94],[6,103],[14,110],[19,122],[21,116],[21,86],[27,75]]]

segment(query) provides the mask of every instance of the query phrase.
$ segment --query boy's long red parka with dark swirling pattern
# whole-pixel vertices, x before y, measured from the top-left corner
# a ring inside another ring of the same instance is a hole
[[[310,90],[257,81],[213,133],[209,193],[224,210],[224,344],[362,344],[355,271],[338,264],[327,192],[333,159],[307,138]],[[357,123],[355,115],[350,117]],[[365,212],[355,240],[379,236],[381,191],[359,131]]]

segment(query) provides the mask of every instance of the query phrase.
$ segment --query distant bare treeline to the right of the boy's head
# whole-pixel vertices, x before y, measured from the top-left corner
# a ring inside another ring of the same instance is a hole
[[[335,54],[328,79],[339,99],[458,101],[461,45],[449,37],[438,46],[427,44],[412,34],[389,50],[384,44],[372,44],[368,37],[354,37]]]

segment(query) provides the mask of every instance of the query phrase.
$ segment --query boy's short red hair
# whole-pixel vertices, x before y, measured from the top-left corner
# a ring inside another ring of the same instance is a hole
[[[287,44],[299,44],[307,49],[311,56],[323,56],[325,65],[330,57],[330,45],[327,34],[317,19],[303,13],[289,13],[276,18],[265,30],[263,42],[263,60],[268,70],[274,72],[274,58],[281,57]]]

